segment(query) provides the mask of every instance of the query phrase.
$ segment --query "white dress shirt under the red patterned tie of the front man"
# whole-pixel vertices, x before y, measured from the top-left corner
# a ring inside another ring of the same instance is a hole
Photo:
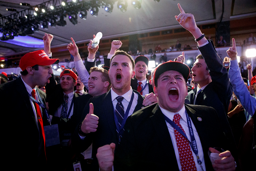
[[[160,106],[159,106],[160,107]],[[173,112],[170,112],[168,110],[165,110],[163,109],[162,107],[160,107],[162,113],[167,116],[170,120],[173,120],[174,119],[174,114]],[[188,128],[188,123],[187,123],[187,118],[186,118],[186,109],[185,109],[185,106],[182,107],[181,110],[179,110],[178,112],[176,113],[179,113],[181,115],[181,120],[180,120],[180,124],[183,128],[183,130],[185,131],[186,133],[186,136],[188,137],[188,140],[191,141],[191,138],[190,138],[190,133],[189,133],[189,128]],[[165,121],[166,122],[166,121]],[[196,140],[196,145],[197,145],[197,148],[198,148],[198,155],[199,155],[199,158],[200,160],[202,161],[202,167],[203,167],[203,170],[206,170],[205,168],[205,160],[204,160],[204,157],[203,157],[203,148],[202,148],[202,144],[201,144],[201,141],[200,141],[200,138],[198,136],[198,133],[196,131],[196,128],[191,120],[191,124],[192,124],[192,129],[193,129],[193,132],[194,132],[194,136],[195,136],[195,140]],[[174,134],[174,128],[171,126],[171,124],[169,124],[168,122],[166,122],[166,125],[168,127],[168,130],[169,130],[169,133],[170,133],[170,136],[171,136],[171,139],[172,139],[172,145],[174,146],[174,151],[175,151],[175,155],[176,155],[176,160],[177,160],[177,163],[178,163],[178,167],[179,167],[179,170],[181,171],[181,162],[180,162],[180,159],[179,159],[179,151],[178,151],[178,147],[177,147],[177,143],[176,143],[176,138],[175,138],[175,134]],[[192,151],[192,154],[193,154],[193,157],[194,157],[194,160],[195,160],[195,164],[196,164],[196,169],[199,171],[199,170],[202,170],[200,165],[197,163],[197,158],[196,158],[196,154],[193,152],[192,150],[192,147],[191,147],[191,151]]]

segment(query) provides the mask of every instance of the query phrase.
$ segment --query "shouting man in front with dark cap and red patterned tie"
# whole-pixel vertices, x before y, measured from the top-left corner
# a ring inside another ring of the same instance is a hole
[[[98,148],[97,158],[102,170],[235,170],[233,149],[223,133],[218,115],[212,107],[184,104],[188,94],[186,82],[189,67],[168,61],[155,69],[155,95],[158,103],[145,107],[125,123],[119,146]],[[184,148],[185,146],[185,148]],[[212,165],[210,147],[225,150]],[[102,155],[103,154],[103,155]],[[111,154],[114,158],[104,156]],[[102,157],[103,156],[103,157]],[[110,161],[112,160],[112,161]]]

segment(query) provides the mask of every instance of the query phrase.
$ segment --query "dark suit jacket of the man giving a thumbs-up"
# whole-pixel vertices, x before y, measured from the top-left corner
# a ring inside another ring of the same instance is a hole
[[[134,112],[138,111],[142,107],[142,102],[144,97],[141,96],[137,91],[134,91],[138,94],[137,106],[134,109]],[[78,134],[78,128],[75,129],[72,136],[72,147],[75,151],[83,152],[86,150],[92,143],[92,170],[99,170],[98,160],[96,157],[97,149],[106,144],[115,143],[118,144],[118,137],[116,132],[114,112],[113,112],[113,103],[111,100],[111,90],[107,93],[91,98],[87,105],[84,108],[81,121],[84,120],[85,116],[89,113],[89,104],[94,105],[94,114],[99,117],[98,128],[94,133],[89,133],[84,140],[81,140]]]

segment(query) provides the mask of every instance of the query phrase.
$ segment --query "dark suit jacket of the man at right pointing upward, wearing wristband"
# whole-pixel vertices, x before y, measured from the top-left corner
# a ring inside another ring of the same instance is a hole
[[[208,40],[209,41],[209,40]],[[233,93],[233,86],[229,81],[228,71],[218,56],[212,41],[203,47],[198,48],[205,63],[208,66],[212,82],[203,89],[196,98],[195,105],[213,107],[224,127],[224,132],[230,139],[234,140],[231,128],[228,123],[227,114],[229,101]],[[196,88],[191,90],[186,96],[190,104],[193,104],[196,95]]]

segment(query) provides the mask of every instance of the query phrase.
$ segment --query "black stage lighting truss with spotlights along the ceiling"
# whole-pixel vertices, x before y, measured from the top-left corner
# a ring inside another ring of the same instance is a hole
[[[86,20],[87,18],[87,11],[89,11],[92,16],[96,17],[100,7],[106,12],[111,13],[116,1],[117,8],[120,11],[127,11],[127,0],[49,0],[36,6],[20,3],[22,6],[27,6],[28,8],[18,12],[14,8],[6,8],[8,11],[13,11],[13,14],[10,14],[9,16],[0,15],[0,32],[26,35],[26,33],[32,33],[32,31],[34,32],[38,30],[38,27],[35,26],[37,24],[39,24],[39,28],[41,28],[42,25],[44,29],[47,29],[49,25],[51,27],[55,27],[56,25],[65,26],[67,25],[67,22],[64,20],[64,17],[68,17],[70,22],[76,25],[78,23],[78,14],[83,20]],[[142,0],[131,0],[131,3],[132,6],[139,9],[141,8]],[[21,17],[24,18],[20,19]],[[60,18],[60,20],[56,21],[58,18]],[[46,21],[49,23],[45,24]],[[31,26],[31,23],[37,24]],[[31,26],[30,28],[27,27],[29,24]],[[32,30],[32,28],[34,30]],[[6,37],[2,38],[5,39]]]

